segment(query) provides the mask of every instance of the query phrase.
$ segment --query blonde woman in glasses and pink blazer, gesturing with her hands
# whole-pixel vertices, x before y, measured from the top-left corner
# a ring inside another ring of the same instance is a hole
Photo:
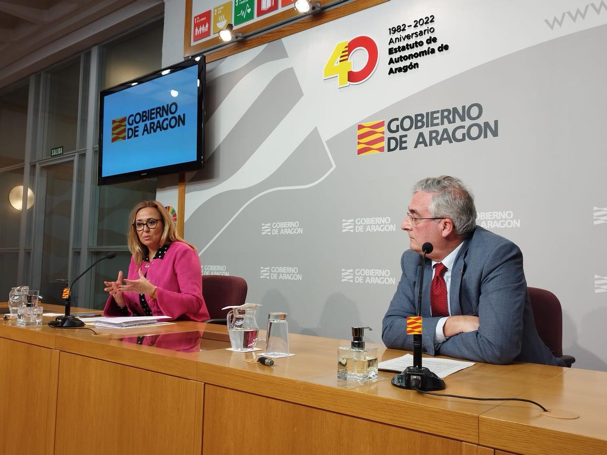
[[[169,212],[158,201],[141,201],[129,220],[128,278],[120,271],[116,281],[104,281],[110,295],[103,314],[208,319],[196,248],[177,234]]]

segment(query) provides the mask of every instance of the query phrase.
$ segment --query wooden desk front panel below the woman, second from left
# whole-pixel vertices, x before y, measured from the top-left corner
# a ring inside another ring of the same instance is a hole
[[[204,385],[61,352],[56,453],[196,454]]]

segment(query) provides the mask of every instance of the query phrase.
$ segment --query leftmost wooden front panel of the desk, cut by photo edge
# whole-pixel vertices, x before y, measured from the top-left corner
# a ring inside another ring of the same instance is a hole
[[[0,338],[0,454],[52,454],[59,351]]]

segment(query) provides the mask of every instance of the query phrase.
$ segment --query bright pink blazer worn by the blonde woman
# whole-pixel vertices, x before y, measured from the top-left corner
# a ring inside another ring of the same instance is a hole
[[[145,266],[148,265],[146,269]],[[171,319],[203,321],[209,318],[205,299],[202,297],[202,271],[196,252],[181,241],[171,243],[162,259],[141,263],[144,275],[157,286],[156,298],[146,295],[146,302],[153,315],[170,316]],[[148,271],[146,274],[145,271]],[[138,266],[131,257],[129,280],[139,278]],[[139,303],[139,294],[123,292],[129,315],[145,314]],[[124,316],[124,312],[110,295],[103,310],[106,316]]]

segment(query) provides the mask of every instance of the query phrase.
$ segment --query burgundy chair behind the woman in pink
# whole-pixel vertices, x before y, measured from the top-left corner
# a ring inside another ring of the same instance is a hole
[[[222,308],[243,305],[246,290],[245,278],[202,275],[202,297],[205,298],[206,309],[209,310],[209,319],[203,322],[225,325],[228,310]]]

